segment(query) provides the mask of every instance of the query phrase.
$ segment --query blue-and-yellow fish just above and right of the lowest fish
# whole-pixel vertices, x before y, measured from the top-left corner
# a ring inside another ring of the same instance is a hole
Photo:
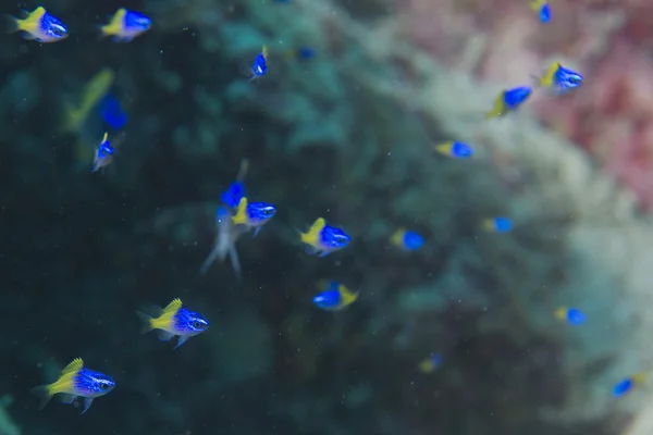
[[[175,349],[195,335],[209,328],[209,322],[198,312],[190,311],[182,304],[181,299],[175,299],[161,309],[155,307],[155,316],[149,316],[136,311],[144,323],[143,333],[158,330],[157,336],[161,341],[168,341],[175,335],[180,337]]]

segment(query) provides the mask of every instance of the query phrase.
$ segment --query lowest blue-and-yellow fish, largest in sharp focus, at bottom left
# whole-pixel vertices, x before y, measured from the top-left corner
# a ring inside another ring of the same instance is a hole
[[[40,385],[32,393],[40,398],[40,409],[44,409],[53,395],[61,393],[63,403],[72,403],[77,397],[84,397],[86,412],[93,399],[111,391],[115,387],[113,380],[106,374],[88,370],[84,366],[82,358],[74,359],[67,364],[53,384]]]

